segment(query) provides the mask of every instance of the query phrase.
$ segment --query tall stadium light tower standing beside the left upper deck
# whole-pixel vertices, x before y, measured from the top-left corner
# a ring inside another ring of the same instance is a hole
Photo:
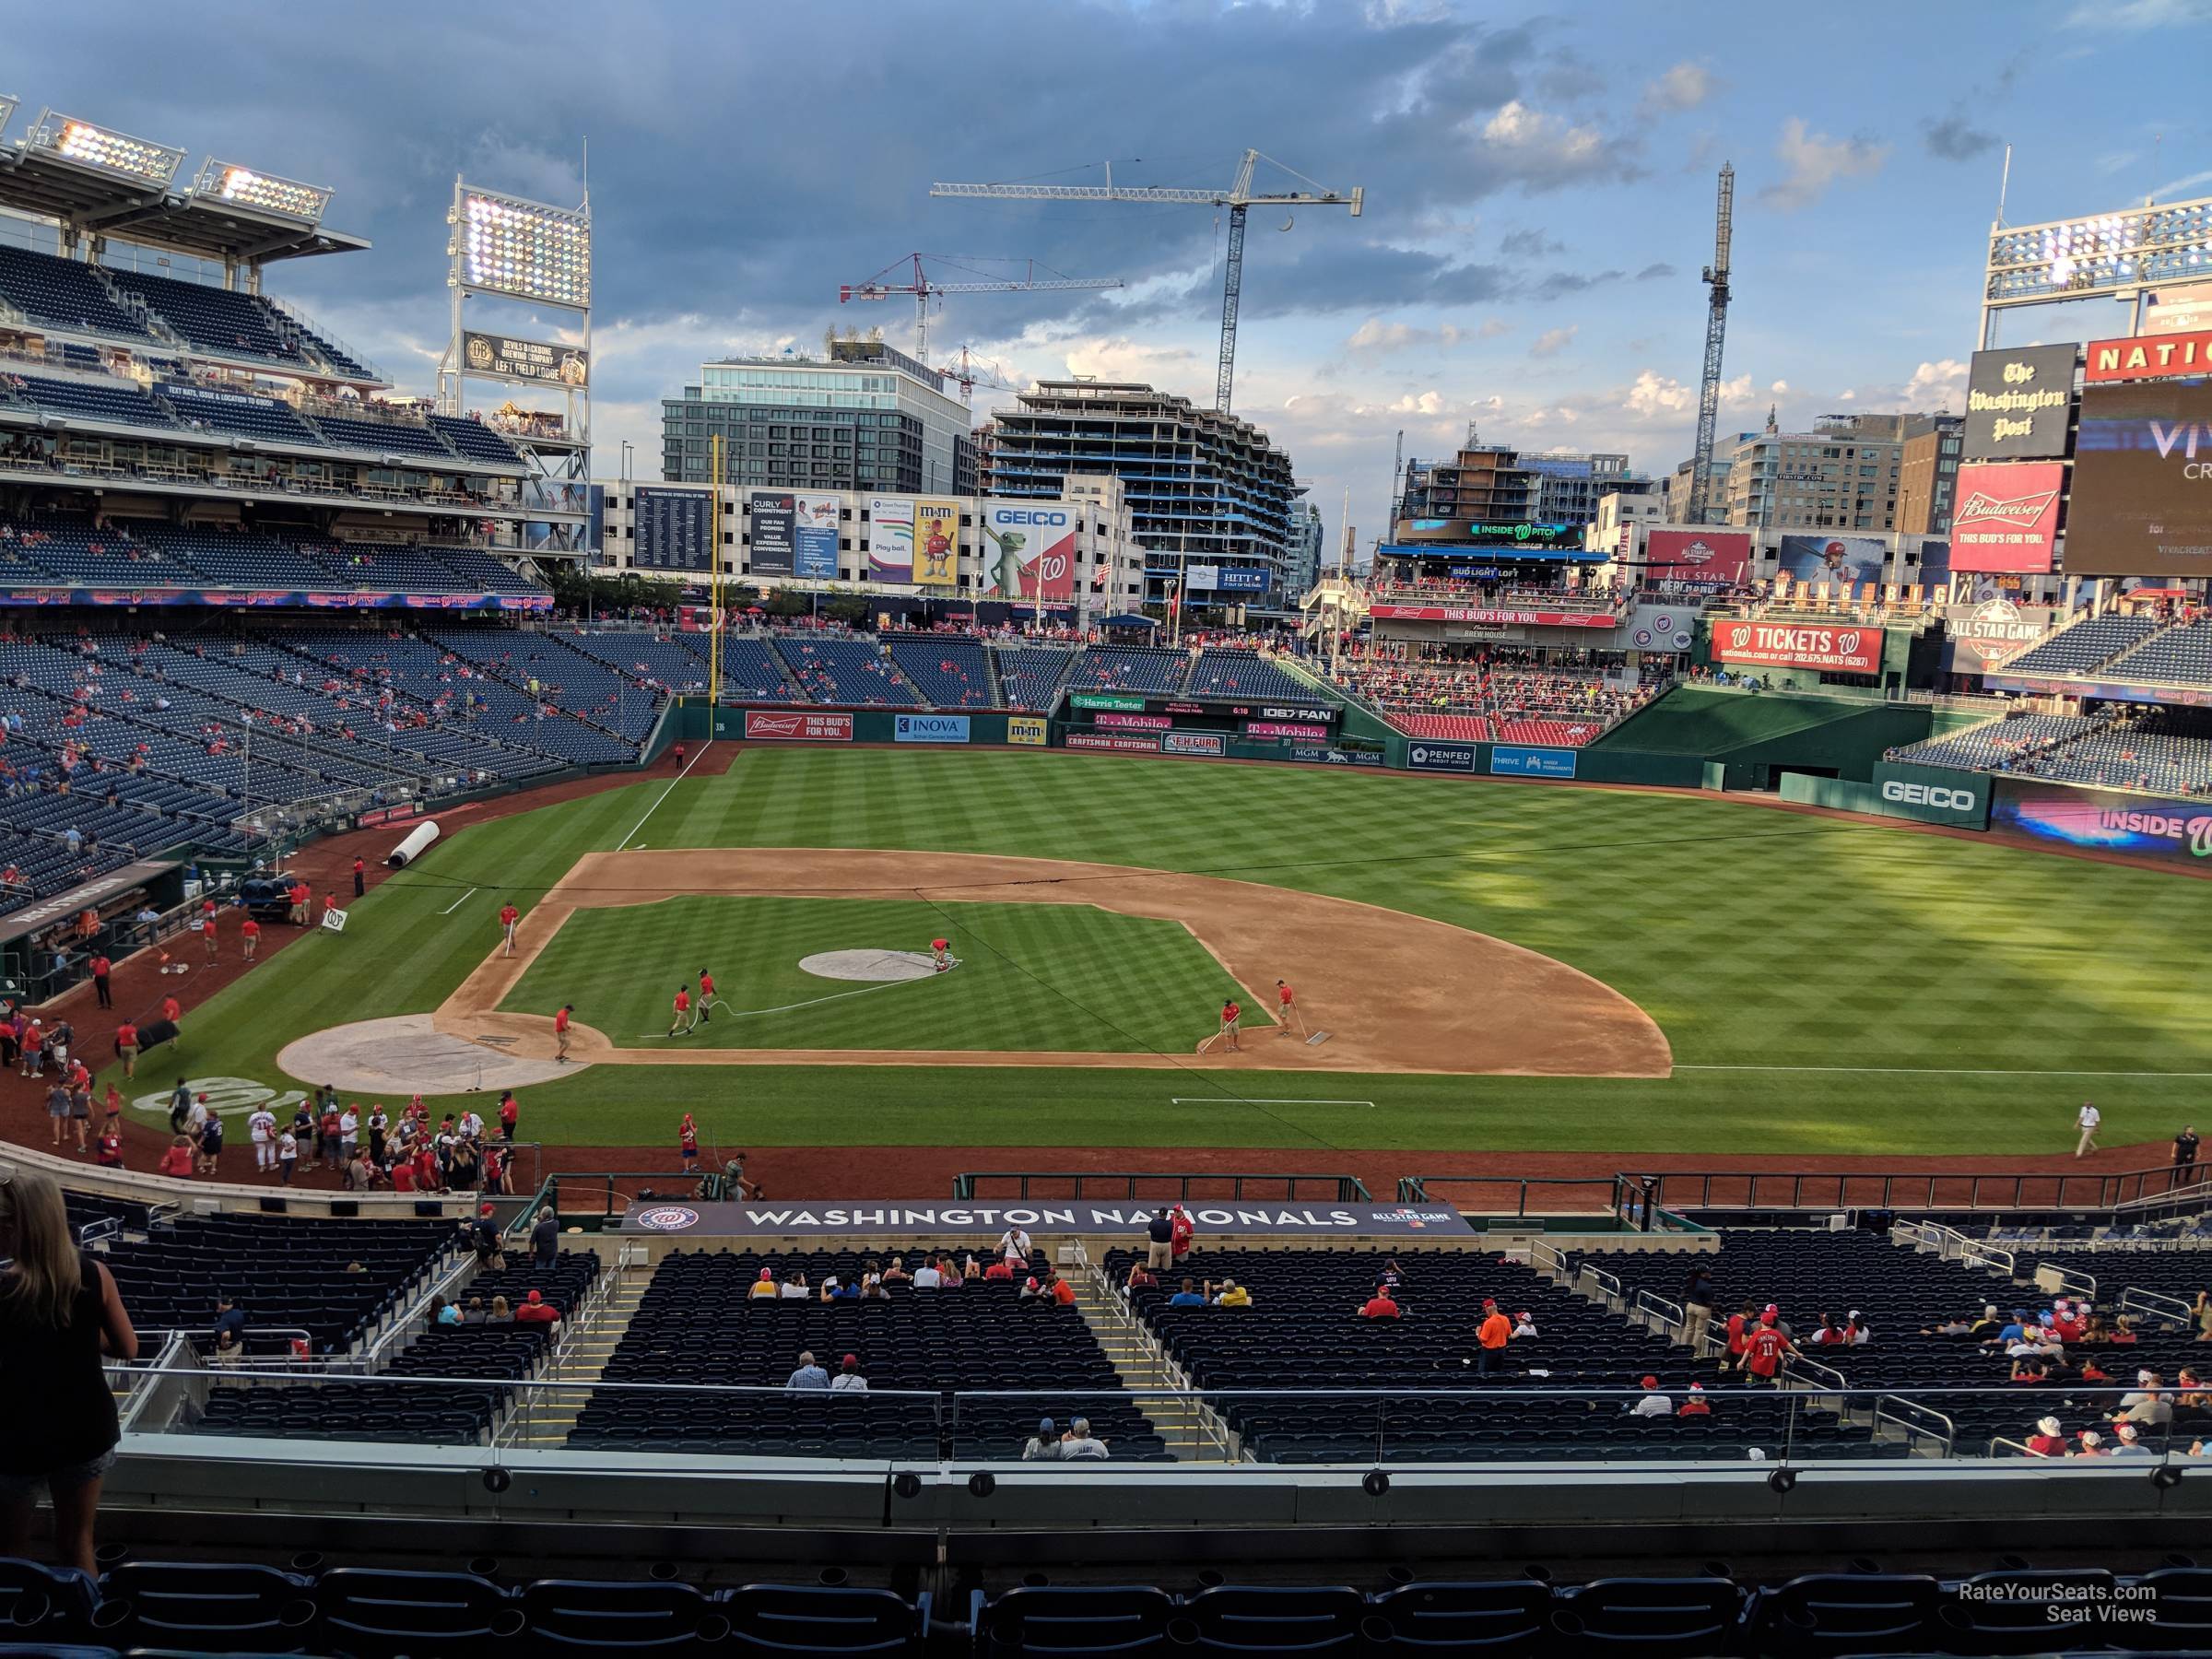
[[[566,398],[560,431],[546,429],[546,418],[531,411],[509,407],[500,416],[507,420],[502,434],[533,469],[522,484],[524,504],[549,513],[544,522],[522,526],[522,546],[513,551],[584,553],[591,489],[591,190],[584,190],[582,206],[555,208],[456,177],[445,223],[453,334],[438,363],[438,407],[465,416],[469,380],[560,392]],[[582,345],[469,327],[462,316],[469,299],[571,312]]]

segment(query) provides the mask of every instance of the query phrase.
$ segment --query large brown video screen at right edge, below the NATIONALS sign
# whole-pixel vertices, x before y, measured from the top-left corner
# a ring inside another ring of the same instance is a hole
[[[2212,380],[2081,392],[2068,575],[2212,575]]]

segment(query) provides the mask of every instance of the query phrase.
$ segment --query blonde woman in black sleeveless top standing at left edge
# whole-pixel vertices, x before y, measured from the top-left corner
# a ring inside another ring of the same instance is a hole
[[[0,1436],[0,1555],[29,1555],[44,1489],[55,1553],[93,1573],[100,1480],[122,1440],[100,1360],[135,1360],[137,1332],[106,1265],[77,1248],[62,1188],[35,1170],[0,1175],[0,1422],[18,1429]]]

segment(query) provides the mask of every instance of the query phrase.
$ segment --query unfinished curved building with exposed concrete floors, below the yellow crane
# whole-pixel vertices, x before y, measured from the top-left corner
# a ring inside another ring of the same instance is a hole
[[[1298,484],[1250,420],[1128,380],[1044,380],[978,436],[987,495],[1057,498],[1082,473],[1119,478],[1150,553],[1146,602],[1164,604],[1186,571],[1192,606],[1296,602],[1285,560]]]

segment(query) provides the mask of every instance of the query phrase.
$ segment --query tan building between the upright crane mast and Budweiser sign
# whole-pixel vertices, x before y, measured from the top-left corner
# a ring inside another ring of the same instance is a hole
[[[1825,416],[1812,431],[1741,434],[1725,449],[1719,524],[1754,529],[1893,531],[1905,440],[1924,414]],[[1723,469],[1723,451],[1714,453]]]

